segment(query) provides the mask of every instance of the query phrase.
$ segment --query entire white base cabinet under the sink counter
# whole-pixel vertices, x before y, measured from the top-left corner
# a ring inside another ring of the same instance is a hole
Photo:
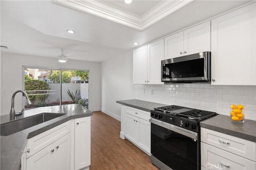
[[[91,117],[72,119],[28,139],[22,170],[89,169]]]

